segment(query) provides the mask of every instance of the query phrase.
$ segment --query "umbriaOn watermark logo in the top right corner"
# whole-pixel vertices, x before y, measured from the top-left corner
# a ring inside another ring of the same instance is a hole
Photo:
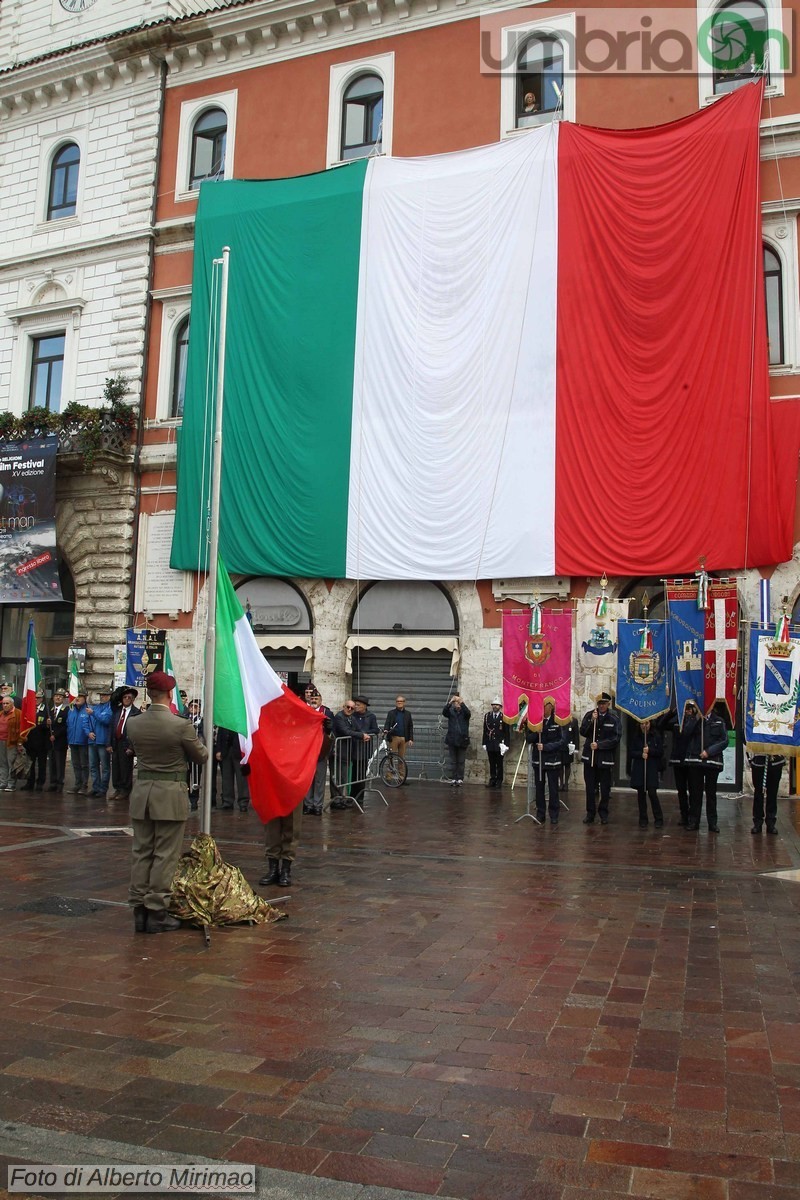
[[[794,13],[756,0],[727,8],[541,8],[481,16],[481,72],[545,82],[578,74],[712,76],[726,84],[790,74]]]

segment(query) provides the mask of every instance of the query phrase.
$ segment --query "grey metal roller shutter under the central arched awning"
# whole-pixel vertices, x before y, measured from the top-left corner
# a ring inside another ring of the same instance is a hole
[[[450,674],[449,650],[360,650],[353,652],[353,691],[369,697],[369,708],[383,726],[397,696],[414,718],[414,746],[408,752],[413,775],[425,772],[439,778],[445,761],[441,709],[458,690]]]

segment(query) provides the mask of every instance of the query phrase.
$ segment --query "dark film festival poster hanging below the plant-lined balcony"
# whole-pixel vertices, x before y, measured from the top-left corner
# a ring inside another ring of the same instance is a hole
[[[58,438],[0,445],[0,604],[61,600],[55,548]]]

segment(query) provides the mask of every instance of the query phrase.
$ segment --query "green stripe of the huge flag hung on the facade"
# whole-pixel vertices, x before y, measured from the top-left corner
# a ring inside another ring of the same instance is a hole
[[[230,246],[221,557],[248,574],[345,574],[366,170],[365,160],[299,179],[200,188],[174,568],[207,565],[198,514],[206,506],[203,457],[212,428],[206,379],[216,370],[207,358],[211,260]],[[242,478],[252,487],[242,488]]]

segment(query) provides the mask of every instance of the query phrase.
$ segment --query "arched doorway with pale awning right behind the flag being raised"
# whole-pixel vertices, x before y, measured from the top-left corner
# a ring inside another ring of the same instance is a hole
[[[288,580],[254,577],[237,583],[255,641],[273,671],[300,695],[312,670],[312,619],[302,592]]]

